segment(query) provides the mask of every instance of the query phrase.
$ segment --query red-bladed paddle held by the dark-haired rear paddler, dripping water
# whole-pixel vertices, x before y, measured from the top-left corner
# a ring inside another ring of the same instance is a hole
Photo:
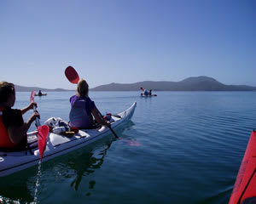
[[[36,92],[32,91],[30,96],[30,102],[34,102],[35,94]],[[33,105],[33,110],[37,111],[36,105]],[[41,126],[38,117],[36,118],[36,126],[38,127],[38,149],[40,154],[40,161],[42,161],[44,150],[45,150],[46,139],[49,133],[49,127],[47,125]]]

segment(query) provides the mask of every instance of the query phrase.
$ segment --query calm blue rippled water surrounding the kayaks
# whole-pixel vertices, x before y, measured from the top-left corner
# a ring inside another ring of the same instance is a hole
[[[73,93],[35,98],[41,122],[68,120]],[[242,156],[256,128],[256,92],[92,92],[102,113],[137,101],[129,122],[96,144],[42,164],[38,203],[227,203]],[[17,93],[15,108],[29,102]],[[25,118],[30,116],[26,114]],[[35,127],[32,125],[31,130]],[[0,178],[6,202],[35,200],[38,167]]]

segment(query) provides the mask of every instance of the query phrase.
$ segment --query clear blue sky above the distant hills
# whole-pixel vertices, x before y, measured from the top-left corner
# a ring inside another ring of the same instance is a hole
[[[75,88],[207,76],[256,86],[254,0],[2,0],[0,81]]]

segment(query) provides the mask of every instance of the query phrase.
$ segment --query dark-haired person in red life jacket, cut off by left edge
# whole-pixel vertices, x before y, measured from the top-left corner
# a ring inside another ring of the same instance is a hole
[[[36,117],[40,117],[34,111],[32,116],[24,122],[23,114],[32,110],[30,103],[26,108],[12,109],[15,105],[15,85],[10,82],[0,82],[0,149],[24,150],[26,148],[26,132]]]

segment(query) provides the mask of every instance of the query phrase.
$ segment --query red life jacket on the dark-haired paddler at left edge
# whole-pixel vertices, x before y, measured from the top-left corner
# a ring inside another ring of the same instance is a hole
[[[3,107],[0,107],[0,148],[12,148],[15,144],[9,139],[9,133],[3,124]]]

